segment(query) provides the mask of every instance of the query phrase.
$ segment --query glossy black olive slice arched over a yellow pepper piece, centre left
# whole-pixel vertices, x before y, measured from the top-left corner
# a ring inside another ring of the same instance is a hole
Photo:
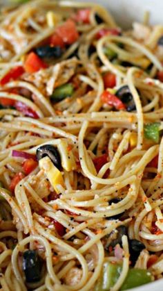
[[[45,156],[48,156],[52,163],[57,167],[57,169],[61,169],[61,158],[59,151],[56,147],[53,147],[51,144],[45,144],[41,147],[38,147],[36,151],[37,160],[41,160]]]

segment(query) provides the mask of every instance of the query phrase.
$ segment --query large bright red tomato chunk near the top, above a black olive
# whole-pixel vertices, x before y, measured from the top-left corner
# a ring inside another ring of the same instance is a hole
[[[65,44],[73,44],[79,38],[79,33],[73,20],[68,19],[63,25],[59,26],[56,30]]]

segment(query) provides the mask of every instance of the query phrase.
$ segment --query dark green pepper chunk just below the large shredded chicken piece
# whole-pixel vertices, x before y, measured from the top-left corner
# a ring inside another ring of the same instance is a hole
[[[55,89],[55,91],[51,95],[51,99],[53,101],[61,101],[65,99],[66,97],[70,97],[73,95],[74,88],[72,83],[64,84]]]

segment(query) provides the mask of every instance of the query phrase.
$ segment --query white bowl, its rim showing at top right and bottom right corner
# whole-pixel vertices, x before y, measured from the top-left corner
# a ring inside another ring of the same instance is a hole
[[[91,0],[83,1],[87,3],[91,2]],[[123,28],[130,27],[134,21],[142,22],[146,11],[150,13],[151,24],[163,24],[163,0],[92,0],[92,2],[105,6],[111,12],[111,15],[115,17],[117,24]],[[163,291],[163,278],[159,281],[142,285],[142,287],[133,288],[130,290]]]

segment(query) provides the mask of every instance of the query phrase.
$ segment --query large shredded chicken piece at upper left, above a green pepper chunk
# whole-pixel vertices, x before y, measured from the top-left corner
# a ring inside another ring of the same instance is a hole
[[[75,74],[77,58],[63,60],[57,65],[52,65],[47,69],[40,69],[39,72],[24,76],[26,81],[29,81],[37,86],[42,92],[46,92],[50,96],[53,90],[68,82]]]

